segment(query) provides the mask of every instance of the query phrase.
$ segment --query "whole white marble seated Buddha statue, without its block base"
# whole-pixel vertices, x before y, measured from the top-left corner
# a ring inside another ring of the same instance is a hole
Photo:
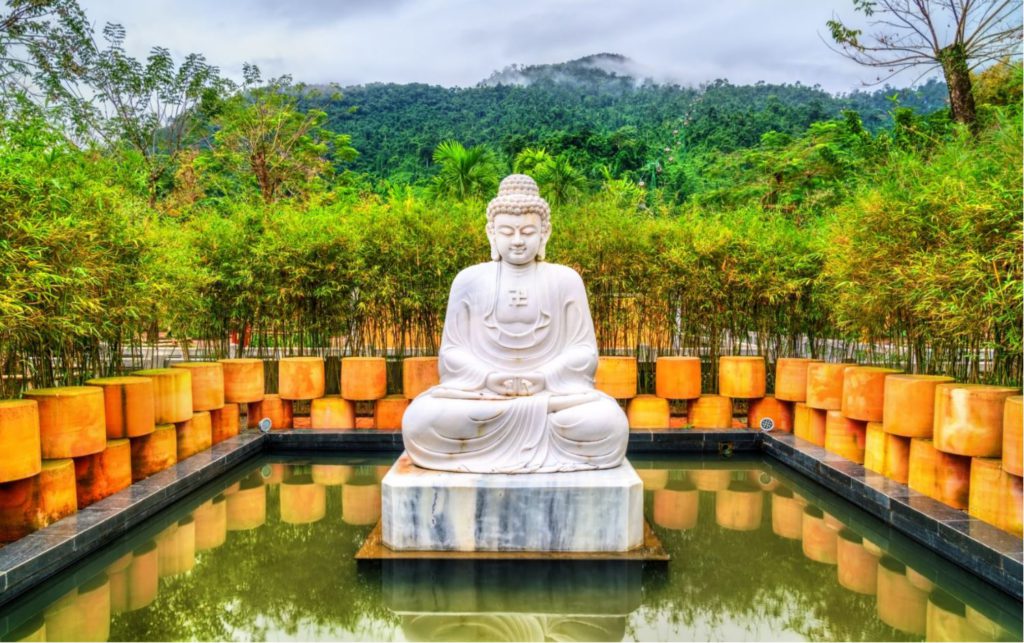
[[[487,205],[494,261],[449,295],[440,384],[413,400],[402,439],[426,469],[474,473],[617,467],[629,424],[594,389],[597,342],[583,280],[546,263],[548,204],[523,174]]]

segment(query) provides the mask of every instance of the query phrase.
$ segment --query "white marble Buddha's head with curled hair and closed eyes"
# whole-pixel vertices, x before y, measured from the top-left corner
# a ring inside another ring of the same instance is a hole
[[[551,235],[551,208],[537,182],[525,174],[510,174],[487,204],[490,258],[522,265],[544,260]]]

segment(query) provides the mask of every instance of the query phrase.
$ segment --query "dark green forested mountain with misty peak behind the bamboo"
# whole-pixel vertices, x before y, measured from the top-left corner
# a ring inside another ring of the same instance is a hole
[[[766,132],[796,135],[844,110],[855,110],[877,131],[891,125],[897,105],[929,113],[946,100],[945,85],[936,80],[837,96],[800,83],[659,84],[633,75],[635,67],[604,53],[512,66],[475,87],[375,83],[343,88],[340,98],[310,95],[303,103],[324,110],[329,127],[351,135],[360,155],[352,170],[417,181],[431,174],[431,155],[449,138],[485,144],[506,161],[525,147],[545,147],[590,175],[603,168],[640,178],[666,147],[683,154],[750,147]]]

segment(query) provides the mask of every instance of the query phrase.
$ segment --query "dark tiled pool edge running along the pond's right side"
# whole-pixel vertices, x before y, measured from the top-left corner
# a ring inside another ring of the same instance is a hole
[[[943,558],[1024,598],[1021,539],[793,434],[765,434],[761,448]]]

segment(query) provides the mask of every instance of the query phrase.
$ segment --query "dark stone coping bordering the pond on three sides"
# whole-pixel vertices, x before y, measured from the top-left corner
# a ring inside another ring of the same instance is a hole
[[[0,604],[255,456],[399,451],[397,430],[244,432],[0,549]],[[744,453],[770,456],[1014,598],[1024,598],[1021,539],[792,434],[745,429],[630,433],[629,454],[640,460]]]

